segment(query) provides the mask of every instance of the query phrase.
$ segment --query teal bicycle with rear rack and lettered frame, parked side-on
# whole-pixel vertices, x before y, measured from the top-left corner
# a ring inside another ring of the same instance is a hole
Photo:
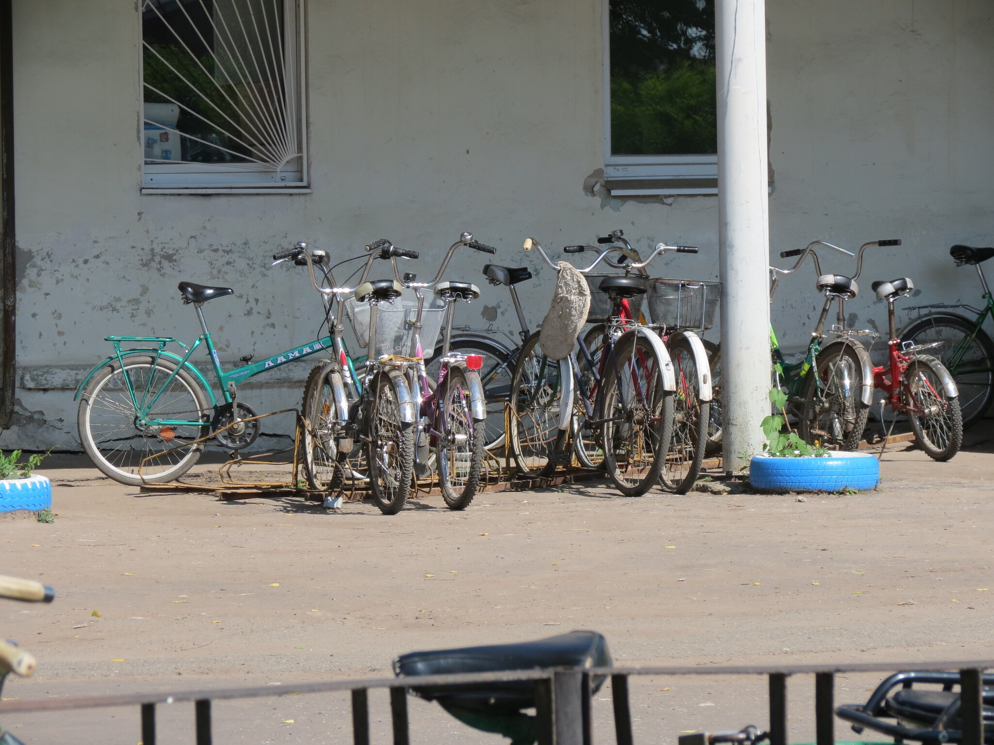
[[[296,256],[301,249],[306,243],[273,259]],[[311,255],[318,262],[327,260],[323,251]],[[332,346],[326,336],[257,363],[246,355],[243,367],[226,373],[202,306],[235,290],[194,282],[180,282],[179,290],[183,304],[197,311],[203,333],[196,341],[187,346],[172,337],[104,337],[113,345],[113,354],[86,373],[74,396],[80,401],[77,425],[86,454],[103,474],[127,486],[178,479],[200,459],[204,443],[195,441],[212,432],[225,448],[247,448],[258,437],[259,422],[251,406],[238,400],[238,384]],[[185,353],[170,352],[170,344]],[[220,396],[190,361],[201,345],[207,348]]]

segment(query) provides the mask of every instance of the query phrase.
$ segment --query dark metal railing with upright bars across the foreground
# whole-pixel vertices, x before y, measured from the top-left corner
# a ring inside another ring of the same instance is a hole
[[[835,674],[839,672],[959,671],[962,745],[983,745],[983,671],[994,668],[994,660],[938,663],[873,663],[855,665],[784,665],[691,668],[576,668],[500,672],[468,672],[446,675],[331,680],[280,686],[187,690],[174,693],[133,693],[79,698],[50,698],[0,702],[0,715],[15,712],[65,711],[110,706],[141,707],[141,742],[155,745],[155,707],[183,701],[194,702],[197,745],[212,745],[211,702],[234,698],[275,697],[331,691],[352,692],[352,732],[355,745],[370,745],[370,688],[390,689],[394,745],[410,745],[408,690],[434,685],[536,681],[536,713],[539,745],[591,745],[590,680],[611,680],[614,732],[617,745],[633,745],[628,678],[632,675],[766,675],[769,679],[769,743],[787,745],[787,677],[815,676],[816,745],[835,745]]]

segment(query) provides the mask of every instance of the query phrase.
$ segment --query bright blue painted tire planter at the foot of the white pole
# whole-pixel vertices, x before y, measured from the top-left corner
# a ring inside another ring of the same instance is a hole
[[[876,489],[880,463],[870,453],[837,452],[827,458],[771,458],[752,456],[749,486],[788,492],[841,492]]]

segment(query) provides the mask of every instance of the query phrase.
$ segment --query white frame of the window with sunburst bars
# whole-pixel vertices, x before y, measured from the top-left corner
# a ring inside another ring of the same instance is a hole
[[[175,164],[146,164],[144,157],[145,131],[145,69],[144,69],[144,29],[142,13],[144,0],[139,0],[138,13],[138,144],[141,153],[141,194],[143,195],[177,195],[177,194],[310,194],[309,153],[307,137],[307,68],[306,68],[306,31],[307,9],[306,0],[283,0],[283,19],[285,25],[286,44],[290,48],[286,55],[286,77],[292,85],[296,97],[295,122],[297,135],[300,140],[300,180],[277,181],[277,173],[272,171],[251,170],[250,167],[219,164],[204,166],[175,163]],[[207,164],[205,164],[207,165]],[[200,169],[200,170],[198,170]],[[296,172],[293,172],[296,173]],[[224,178],[231,174],[235,178]],[[251,178],[251,175],[271,174],[271,183],[261,178]],[[219,178],[219,175],[221,178]],[[156,176],[160,177],[154,183]],[[242,178],[238,178],[241,176]],[[151,178],[149,178],[151,177]],[[167,178],[161,178],[167,177]]]

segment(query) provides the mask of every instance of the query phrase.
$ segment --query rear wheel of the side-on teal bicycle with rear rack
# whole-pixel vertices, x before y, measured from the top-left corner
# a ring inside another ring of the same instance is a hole
[[[127,486],[164,484],[180,478],[200,458],[203,443],[175,452],[184,442],[210,434],[211,404],[191,373],[165,358],[128,356],[124,368],[116,360],[95,373],[80,397],[77,425],[83,449],[105,476]],[[169,376],[175,376],[165,385]],[[125,375],[139,401],[155,399],[146,419],[202,421],[197,425],[140,425]],[[164,386],[165,385],[165,386]],[[163,387],[164,386],[164,387]],[[161,389],[161,392],[160,392]],[[141,466],[143,459],[158,456]],[[138,470],[141,468],[141,474]]]

